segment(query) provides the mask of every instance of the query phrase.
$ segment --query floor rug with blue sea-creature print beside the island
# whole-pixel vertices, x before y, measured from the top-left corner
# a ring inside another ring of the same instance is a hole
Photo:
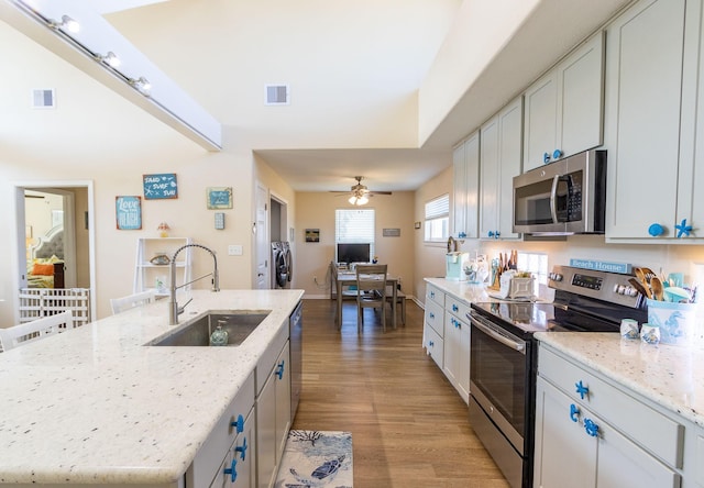
[[[352,488],[350,432],[288,433],[275,488]]]

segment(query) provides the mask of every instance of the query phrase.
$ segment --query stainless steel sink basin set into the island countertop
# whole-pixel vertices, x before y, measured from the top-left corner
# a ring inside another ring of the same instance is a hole
[[[271,310],[218,310],[168,332],[144,345],[209,346],[218,325],[228,332],[228,345],[238,346],[262,323]]]

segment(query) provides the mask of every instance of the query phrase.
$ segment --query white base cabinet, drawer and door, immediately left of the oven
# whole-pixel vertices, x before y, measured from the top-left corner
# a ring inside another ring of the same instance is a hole
[[[465,403],[470,401],[470,307],[452,295],[444,301],[443,373]]]

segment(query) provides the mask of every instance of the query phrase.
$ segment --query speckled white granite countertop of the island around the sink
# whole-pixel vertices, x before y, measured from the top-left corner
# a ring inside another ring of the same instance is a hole
[[[272,312],[234,347],[143,346],[175,328],[161,300],[0,353],[0,484],[182,477],[302,291],[188,296],[182,323],[218,309]]]

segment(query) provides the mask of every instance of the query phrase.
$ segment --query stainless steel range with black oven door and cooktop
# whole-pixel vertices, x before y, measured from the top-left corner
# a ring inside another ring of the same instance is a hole
[[[536,332],[615,332],[645,322],[645,298],[630,275],[556,266],[553,303],[479,302],[472,324],[470,423],[512,487],[532,486]]]

